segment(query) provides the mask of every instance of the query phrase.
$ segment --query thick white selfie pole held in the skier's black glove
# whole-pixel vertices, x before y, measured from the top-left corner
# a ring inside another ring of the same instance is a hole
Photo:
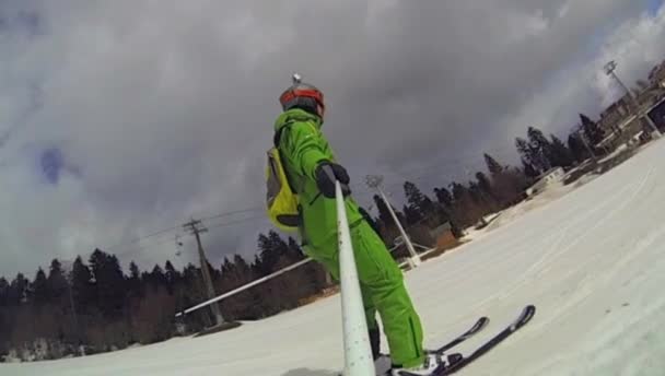
[[[347,220],[347,208],[339,181],[335,184],[337,228],[339,231],[339,273],[345,342],[345,376],[374,376],[374,360],[368,337],[368,322],[358,282],[358,269]]]

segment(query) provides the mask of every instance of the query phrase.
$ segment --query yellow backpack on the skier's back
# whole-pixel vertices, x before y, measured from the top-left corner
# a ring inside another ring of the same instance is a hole
[[[285,232],[294,232],[301,223],[300,205],[278,149],[280,133],[276,134],[275,145],[268,150],[266,168],[268,218],[277,227]]]

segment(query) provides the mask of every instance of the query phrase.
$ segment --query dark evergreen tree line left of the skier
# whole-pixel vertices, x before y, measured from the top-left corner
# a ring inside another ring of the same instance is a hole
[[[240,255],[208,263],[217,293],[224,293],[302,260],[295,240],[275,232],[258,236],[253,262]],[[225,320],[253,320],[291,309],[327,286],[324,270],[310,262],[220,303]],[[31,280],[23,273],[0,278],[0,360],[59,359],[153,343],[212,325],[210,309],[175,319],[208,298],[201,270],[171,261],[141,271],[132,261],[124,272],[115,255],[95,249],[66,272],[54,259]]]

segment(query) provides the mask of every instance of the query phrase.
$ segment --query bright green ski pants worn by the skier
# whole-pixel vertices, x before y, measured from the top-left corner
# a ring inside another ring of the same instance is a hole
[[[401,270],[366,221],[354,223],[350,230],[368,327],[376,328],[378,313],[393,364],[405,367],[421,364],[424,360],[422,326],[404,284]],[[306,248],[310,256],[339,281],[337,239],[331,239],[328,246],[320,247],[323,249]]]

